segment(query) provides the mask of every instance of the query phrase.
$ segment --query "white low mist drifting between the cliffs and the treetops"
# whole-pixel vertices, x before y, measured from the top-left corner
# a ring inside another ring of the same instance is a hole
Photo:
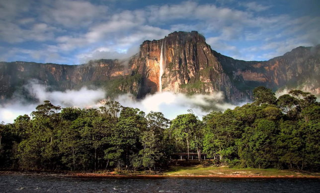
[[[27,102],[23,95],[15,93],[13,99],[5,104],[0,104],[0,122],[13,123],[19,115],[30,115],[45,100],[61,107],[98,108],[103,106],[101,100],[108,97],[108,93],[101,88],[82,87],[79,90],[49,91],[50,87],[35,80],[31,80],[24,88],[38,102]],[[162,112],[170,120],[177,115],[188,113],[190,109],[202,119],[202,116],[207,115],[212,110],[225,111],[228,108],[236,107],[236,105],[224,102],[222,92],[192,96],[182,93],[162,92],[147,95],[140,100],[128,93],[119,95],[114,100],[125,107],[139,108],[146,114],[151,111]]]

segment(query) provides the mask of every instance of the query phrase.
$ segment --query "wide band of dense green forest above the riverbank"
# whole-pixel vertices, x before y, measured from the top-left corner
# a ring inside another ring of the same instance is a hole
[[[2,170],[160,170],[177,152],[206,153],[229,167],[320,170],[320,103],[301,90],[276,98],[265,87],[253,102],[200,120],[192,110],[166,119],[108,101],[95,109],[50,101],[0,124]]]

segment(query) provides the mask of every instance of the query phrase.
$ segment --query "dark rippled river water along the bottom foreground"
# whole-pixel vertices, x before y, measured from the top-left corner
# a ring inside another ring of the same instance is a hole
[[[1,193],[320,193],[320,180],[80,179],[50,175],[0,175]]]

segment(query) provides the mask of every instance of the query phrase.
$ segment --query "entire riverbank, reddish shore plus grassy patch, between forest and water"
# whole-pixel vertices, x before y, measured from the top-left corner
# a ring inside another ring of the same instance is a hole
[[[255,169],[255,168],[229,168],[229,167],[204,167],[204,166],[171,166],[170,169],[158,174],[144,172],[12,172],[1,171],[1,174],[21,175],[48,175],[70,178],[250,178],[250,179],[320,179],[320,173],[305,171]]]

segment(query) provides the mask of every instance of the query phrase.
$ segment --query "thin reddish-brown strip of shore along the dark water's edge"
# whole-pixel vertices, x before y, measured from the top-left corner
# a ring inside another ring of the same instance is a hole
[[[41,172],[41,171],[0,171],[0,175],[30,175],[30,176],[52,176],[66,178],[83,178],[83,179],[320,179],[320,176],[303,175],[165,175],[165,174],[111,174],[111,173],[87,173],[87,172]]]

